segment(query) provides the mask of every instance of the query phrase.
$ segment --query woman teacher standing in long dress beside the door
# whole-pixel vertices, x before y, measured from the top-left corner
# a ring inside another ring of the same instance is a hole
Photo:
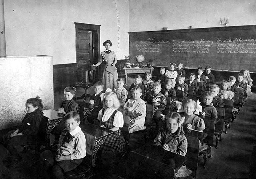
[[[115,68],[115,70],[111,73],[106,71],[106,68],[108,65],[115,67],[115,64],[117,63],[116,54],[114,51],[110,50],[110,47],[112,46],[112,42],[110,40],[106,40],[105,42],[103,42],[103,46],[106,48],[106,50],[100,53],[101,55],[98,63],[93,66],[98,67],[102,63],[102,60],[106,62],[102,75],[102,83],[104,84],[104,90],[110,88],[113,91],[114,88],[117,88],[117,70]]]

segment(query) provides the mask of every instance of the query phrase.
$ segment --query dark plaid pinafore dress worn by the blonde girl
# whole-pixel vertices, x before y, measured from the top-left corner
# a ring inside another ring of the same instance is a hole
[[[102,114],[104,114],[105,109],[102,109]],[[104,125],[107,129],[114,127],[114,117],[117,110],[115,110],[109,119],[105,122],[100,121],[100,126]],[[104,144],[101,145],[101,150],[112,151],[117,153],[122,153],[125,146],[124,136],[120,129],[114,131],[111,135],[108,135],[104,141]]]

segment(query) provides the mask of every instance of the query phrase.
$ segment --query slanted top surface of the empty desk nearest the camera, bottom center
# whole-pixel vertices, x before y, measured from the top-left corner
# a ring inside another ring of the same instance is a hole
[[[187,161],[187,157],[164,150],[161,146],[154,145],[154,143],[147,143],[133,152],[142,155],[144,158],[150,158],[173,167],[176,172]]]

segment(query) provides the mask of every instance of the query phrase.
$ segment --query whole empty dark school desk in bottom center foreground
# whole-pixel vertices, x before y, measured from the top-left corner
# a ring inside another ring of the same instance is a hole
[[[164,150],[154,143],[147,143],[130,152],[130,178],[174,178],[174,173],[187,161],[187,157]]]

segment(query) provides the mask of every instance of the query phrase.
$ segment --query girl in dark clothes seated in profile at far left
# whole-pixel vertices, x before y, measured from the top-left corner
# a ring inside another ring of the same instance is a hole
[[[39,96],[27,99],[26,110],[27,113],[22,120],[22,124],[16,130],[10,130],[7,134],[0,136],[0,144],[11,154],[11,156],[3,160],[3,164],[6,167],[15,166],[22,160],[15,146],[35,142],[38,134],[43,116],[43,104]]]

